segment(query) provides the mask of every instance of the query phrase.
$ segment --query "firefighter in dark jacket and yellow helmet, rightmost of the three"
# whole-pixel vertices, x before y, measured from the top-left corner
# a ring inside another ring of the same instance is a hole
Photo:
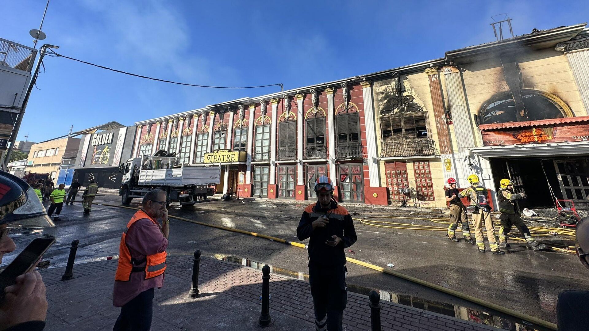
[[[514,183],[507,178],[499,181],[499,191],[497,198],[499,200],[499,211],[501,211],[501,227],[499,227],[499,247],[509,248],[507,243],[507,234],[511,227],[515,226],[524,236],[525,241],[533,250],[545,249],[546,245],[538,243],[530,233],[530,229],[524,224],[519,215],[519,208],[516,208],[516,201],[527,197],[524,193],[514,193]]]

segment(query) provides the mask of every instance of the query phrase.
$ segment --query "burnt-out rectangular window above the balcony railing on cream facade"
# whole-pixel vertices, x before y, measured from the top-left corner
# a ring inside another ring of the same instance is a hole
[[[381,117],[380,130],[385,141],[428,137],[428,128],[423,112]]]

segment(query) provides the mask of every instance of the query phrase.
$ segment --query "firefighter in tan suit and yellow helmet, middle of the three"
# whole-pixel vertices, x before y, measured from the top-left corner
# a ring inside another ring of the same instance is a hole
[[[465,188],[460,197],[468,197],[471,201],[471,206],[474,207],[472,211],[472,224],[475,226],[475,238],[477,239],[477,246],[481,253],[485,253],[485,237],[482,234],[482,224],[485,223],[487,229],[487,239],[489,246],[491,246],[491,253],[502,255],[504,251],[497,246],[497,237],[495,237],[495,227],[491,220],[491,210],[489,208],[489,201],[487,199],[487,189],[482,186],[477,175],[472,174],[467,178],[471,186]]]

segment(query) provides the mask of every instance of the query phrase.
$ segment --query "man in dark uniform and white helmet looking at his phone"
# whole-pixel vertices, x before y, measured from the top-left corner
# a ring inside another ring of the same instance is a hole
[[[303,211],[299,240],[309,239],[309,284],[315,309],[316,330],[342,330],[343,310],[348,302],[346,254],[356,242],[356,230],[348,210],[333,200],[333,184],[327,176],[315,181],[317,203]]]

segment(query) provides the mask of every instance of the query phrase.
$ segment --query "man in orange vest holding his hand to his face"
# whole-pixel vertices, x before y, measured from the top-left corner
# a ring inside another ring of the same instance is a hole
[[[154,289],[161,289],[166,271],[169,222],[166,192],[153,190],[127,223],[112,290],[112,304],[121,307],[113,331],[150,330]]]

